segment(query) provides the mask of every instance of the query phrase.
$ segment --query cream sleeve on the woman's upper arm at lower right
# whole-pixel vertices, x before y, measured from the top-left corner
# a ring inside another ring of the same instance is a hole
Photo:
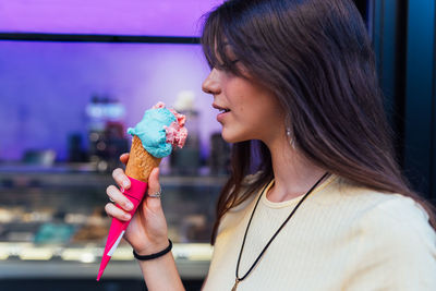
[[[436,234],[413,199],[393,197],[355,225],[359,238],[342,290],[436,290]]]

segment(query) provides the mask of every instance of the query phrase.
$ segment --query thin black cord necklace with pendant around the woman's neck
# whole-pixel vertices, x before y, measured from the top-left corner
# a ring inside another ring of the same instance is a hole
[[[269,239],[268,243],[264,246],[264,250],[262,250],[261,254],[257,256],[257,258],[254,260],[254,263],[252,264],[252,266],[250,267],[250,269],[245,272],[244,276],[239,277],[239,265],[241,263],[241,257],[242,257],[242,253],[244,251],[244,246],[245,246],[245,240],[246,240],[246,234],[249,233],[249,229],[250,229],[250,225],[252,223],[252,219],[254,216],[254,213],[256,211],[257,205],[261,201],[262,195],[264,195],[265,190],[267,189],[268,184],[265,185],[265,187],[262,190],[261,195],[258,196],[257,201],[256,201],[256,205],[254,205],[252,215],[250,217],[249,220],[249,225],[245,228],[245,233],[244,233],[244,239],[242,241],[242,245],[241,245],[241,250],[239,251],[239,257],[238,257],[238,264],[237,264],[237,271],[235,271],[235,279],[234,279],[234,284],[233,288],[231,289],[231,291],[237,291],[238,284],[244,280],[250,274],[251,271],[254,269],[254,267],[257,265],[257,263],[261,260],[262,256],[265,254],[266,250],[269,247],[269,245],[271,244],[271,242],[274,241],[274,239],[276,239],[277,234],[279,234],[279,232],[283,229],[283,227],[286,226],[286,223],[288,223],[288,221],[291,219],[291,217],[293,216],[293,214],[296,211],[296,209],[300,207],[300,205],[304,202],[304,199],[308,196],[308,194],[311,194],[314,189],[319,184],[320,181],[323,181],[324,178],[326,178],[328,174],[328,172],[326,172],[312,187],[311,190],[307,191],[306,194],[304,194],[304,196],[299,201],[299,203],[296,204],[296,206],[292,209],[292,211],[289,214],[289,216],[287,217],[287,219],[284,219],[283,223],[281,223],[281,226],[276,230],[276,232],[274,233],[274,235]]]

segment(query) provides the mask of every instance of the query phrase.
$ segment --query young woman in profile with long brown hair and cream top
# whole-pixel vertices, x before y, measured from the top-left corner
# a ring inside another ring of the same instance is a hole
[[[203,90],[233,144],[203,289],[436,290],[434,214],[395,160],[352,1],[227,1],[202,44]],[[158,175],[125,233],[140,255],[168,247]],[[121,169],[113,178],[129,186]],[[129,210],[116,186],[107,193]],[[183,290],[171,253],[140,266],[149,290]]]

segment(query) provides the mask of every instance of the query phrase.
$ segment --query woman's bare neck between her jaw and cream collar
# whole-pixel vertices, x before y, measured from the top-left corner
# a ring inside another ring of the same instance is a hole
[[[271,153],[275,177],[275,184],[267,193],[271,202],[284,202],[304,195],[326,173],[298,148],[292,148],[287,138],[267,146]]]

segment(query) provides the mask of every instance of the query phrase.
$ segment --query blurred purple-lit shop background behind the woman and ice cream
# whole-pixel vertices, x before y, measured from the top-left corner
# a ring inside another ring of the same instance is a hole
[[[187,290],[207,274],[226,144],[201,84],[201,16],[222,0],[0,0],[0,290],[144,290],[121,243],[96,282],[111,170],[125,131],[161,100],[187,116],[162,160],[162,203]],[[397,158],[436,198],[436,7],[355,1],[377,57]]]

